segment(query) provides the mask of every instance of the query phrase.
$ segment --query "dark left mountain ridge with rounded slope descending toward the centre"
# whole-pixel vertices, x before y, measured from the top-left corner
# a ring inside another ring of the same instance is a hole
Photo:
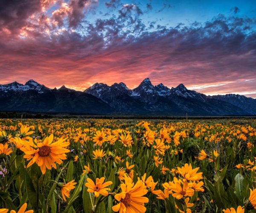
[[[65,86],[49,89],[29,80],[0,85],[0,111],[105,114],[113,109],[93,95]]]

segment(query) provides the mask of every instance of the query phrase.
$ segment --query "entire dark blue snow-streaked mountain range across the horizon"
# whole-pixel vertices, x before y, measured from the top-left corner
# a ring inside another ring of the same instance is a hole
[[[0,85],[0,111],[95,115],[222,116],[256,115],[256,99],[244,95],[204,95],[183,84],[154,86],[145,78],[138,87],[95,83],[84,92],[50,89],[33,80]]]

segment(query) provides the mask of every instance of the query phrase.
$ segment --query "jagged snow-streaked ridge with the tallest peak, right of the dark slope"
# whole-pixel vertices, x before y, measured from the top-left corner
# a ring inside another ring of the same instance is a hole
[[[138,87],[128,89],[124,83],[114,83],[111,86],[96,83],[84,92],[102,99],[111,107],[119,110],[129,110],[122,105],[120,97],[129,96],[133,100],[144,103],[143,108],[149,111],[177,112],[182,114],[188,112],[190,115],[255,115],[254,111],[248,110],[244,104],[232,103],[225,98],[214,98],[187,89],[182,83],[177,87],[169,88],[160,83],[153,86],[149,78],[145,78]],[[243,96],[247,100],[247,97]],[[256,100],[252,99],[254,106]],[[141,106],[142,107],[142,106]]]

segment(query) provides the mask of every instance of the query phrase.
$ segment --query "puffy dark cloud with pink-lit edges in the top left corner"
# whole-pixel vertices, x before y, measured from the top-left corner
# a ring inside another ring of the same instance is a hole
[[[40,35],[67,25],[76,29],[96,0],[2,0],[0,37]],[[47,9],[55,6],[50,13]]]

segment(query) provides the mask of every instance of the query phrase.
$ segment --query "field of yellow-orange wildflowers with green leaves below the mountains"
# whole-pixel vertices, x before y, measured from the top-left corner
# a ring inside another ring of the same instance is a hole
[[[254,119],[0,119],[0,213],[253,213],[255,145]]]

